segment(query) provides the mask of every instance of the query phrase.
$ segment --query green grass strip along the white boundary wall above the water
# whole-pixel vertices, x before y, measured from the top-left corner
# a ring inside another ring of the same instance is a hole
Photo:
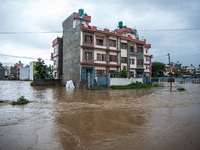
[[[111,86],[114,90],[124,90],[124,89],[143,89],[150,87],[157,87],[158,85],[142,84],[141,82],[131,83],[129,85],[113,85]]]

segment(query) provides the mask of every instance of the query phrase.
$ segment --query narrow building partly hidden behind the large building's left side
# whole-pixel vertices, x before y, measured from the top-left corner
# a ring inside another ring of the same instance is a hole
[[[52,42],[54,52],[51,53],[51,60],[53,61],[52,71],[55,79],[62,79],[62,64],[63,64],[63,39],[57,37]]]

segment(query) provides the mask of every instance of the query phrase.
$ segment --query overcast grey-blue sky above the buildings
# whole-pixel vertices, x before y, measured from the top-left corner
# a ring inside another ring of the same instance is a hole
[[[168,63],[170,53],[173,62],[200,64],[200,0],[0,0],[0,62],[33,61],[5,55],[50,59],[52,41],[61,33],[22,32],[62,31],[62,22],[80,8],[92,26],[114,30],[123,21],[136,28],[151,44],[153,61]]]

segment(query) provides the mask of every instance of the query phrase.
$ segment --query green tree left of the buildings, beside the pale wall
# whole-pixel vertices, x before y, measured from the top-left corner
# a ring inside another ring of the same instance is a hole
[[[35,75],[39,76],[39,78],[44,79],[46,75],[46,68],[47,66],[44,63],[44,60],[41,58],[38,58],[38,61],[36,62],[35,70],[36,73]]]

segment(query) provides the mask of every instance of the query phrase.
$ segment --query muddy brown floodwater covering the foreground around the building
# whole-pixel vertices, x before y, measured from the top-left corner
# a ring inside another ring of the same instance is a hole
[[[0,81],[0,149],[200,149],[200,84],[171,93],[163,84],[89,91]],[[22,95],[31,103],[9,104]]]

